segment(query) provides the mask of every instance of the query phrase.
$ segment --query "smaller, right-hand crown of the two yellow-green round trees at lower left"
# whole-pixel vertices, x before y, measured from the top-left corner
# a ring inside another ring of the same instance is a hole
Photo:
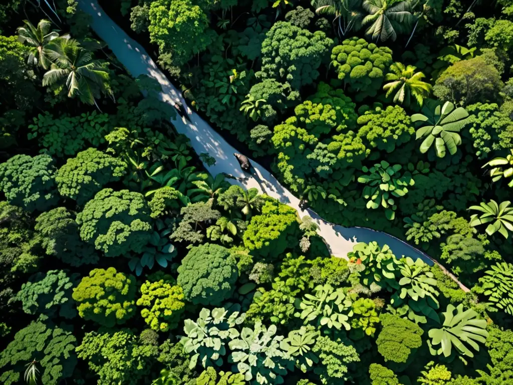
[[[180,321],[180,315],[185,310],[184,291],[175,284],[168,274],[156,273],[141,286],[141,298],[137,306],[143,306],[141,311],[146,323],[155,331],[167,332],[175,329]]]

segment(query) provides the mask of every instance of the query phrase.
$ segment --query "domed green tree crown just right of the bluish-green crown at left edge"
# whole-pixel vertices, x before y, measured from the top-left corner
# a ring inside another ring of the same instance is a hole
[[[68,159],[58,169],[55,182],[63,197],[74,199],[78,205],[83,205],[104,185],[120,180],[126,168],[127,164],[121,159],[91,147],[78,152],[75,158]]]

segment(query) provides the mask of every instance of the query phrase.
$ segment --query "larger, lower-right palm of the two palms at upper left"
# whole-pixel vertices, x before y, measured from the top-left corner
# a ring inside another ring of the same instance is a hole
[[[43,85],[51,86],[65,81],[68,97],[78,97],[81,102],[94,104],[101,93],[111,94],[108,87],[109,73],[91,52],[80,47],[76,40],[59,37],[48,45],[48,57],[52,61],[50,70],[43,76]]]

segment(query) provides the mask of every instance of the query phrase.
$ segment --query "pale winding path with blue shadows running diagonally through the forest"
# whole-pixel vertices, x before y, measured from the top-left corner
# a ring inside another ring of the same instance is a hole
[[[117,57],[117,60],[125,66],[134,78],[141,74],[150,76],[162,86],[160,98],[164,102],[176,108],[178,106],[187,106],[181,92],[171,84],[145,49],[132,40],[125,31],[111,20],[100,5],[98,5],[97,0],[78,0],[78,6],[92,16],[91,28],[107,43],[110,50]],[[298,210],[300,217],[305,215],[312,217],[319,225],[319,234],[324,238],[332,255],[347,258],[347,253],[352,251],[352,247],[356,242],[377,241],[380,245],[386,243],[397,256],[406,255],[413,259],[421,258],[429,265],[433,265],[433,263],[438,264],[446,274],[458,282],[464,291],[469,291],[440,263],[399,238],[370,228],[335,225],[325,221],[312,210],[301,209],[299,207],[299,199],[294,197],[269,171],[257,162],[250,160],[254,168],[254,174],[245,174],[233,156],[233,153],[237,151],[197,113],[188,106],[186,110],[187,117],[177,115],[176,119],[171,120],[171,123],[176,128],[176,131],[185,134],[190,139],[191,145],[197,153],[208,152],[211,157],[215,158],[215,165],[205,165],[212,175],[215,176],[222,172],[232,175],[237,179],[228,179],[230,183],[239,184],[244,188],[256,187],[270,197],[276,198],[280,202]]]

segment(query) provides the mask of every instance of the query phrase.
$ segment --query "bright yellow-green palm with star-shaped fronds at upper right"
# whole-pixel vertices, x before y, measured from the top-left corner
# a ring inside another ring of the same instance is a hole
[[[424,99],[431,91],[431,85],[422,81],[425,75],[422,72],[415,72],[416,69],[417,67],[410,65],[405,67],[402,63],[393,63],[390,66],[390,72],[386,74],[385,80],[391,82],[385,84],[383,89],[387,91],[387,97],[397,91],[393,97],[394,103],[405,102],[406,105],[409,105],[410,97],[413,95],[422,107]]]

